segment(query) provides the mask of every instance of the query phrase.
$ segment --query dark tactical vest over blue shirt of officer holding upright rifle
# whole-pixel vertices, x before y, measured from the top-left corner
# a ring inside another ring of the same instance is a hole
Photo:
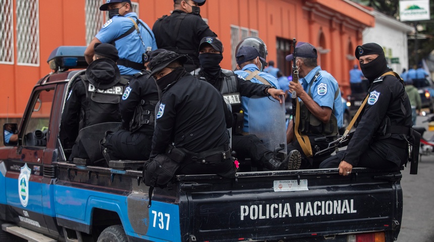
[[[307,94],[312,98],[310,88],[312,87],[312,84],[316,82],[316,80],[319,77],[319,71],[316,72],[315,77],[310,82],[308,87]],[[340,90],[335,91],[335,100],[339,96]],[[333,105],[332,114],[330,115],[330,120],[327,123],[322,123],[321,120],[319,120],[315,115],[313,115],[309,109],[304,105],[303,101],[300,101],[300,131],[302,134],[308,135],[308,134],[321,134],[323,136],[330,136],[330,135],[338,135],[338,119],[336,118],[335,114],[335,105]]]

